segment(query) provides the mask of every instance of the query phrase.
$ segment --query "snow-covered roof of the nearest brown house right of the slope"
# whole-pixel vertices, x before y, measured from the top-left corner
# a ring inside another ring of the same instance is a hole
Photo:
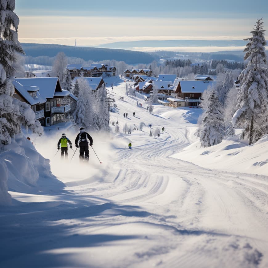
[[[203,93],[209,86],[215,87],[217,81],[180,81],[182,93]]]

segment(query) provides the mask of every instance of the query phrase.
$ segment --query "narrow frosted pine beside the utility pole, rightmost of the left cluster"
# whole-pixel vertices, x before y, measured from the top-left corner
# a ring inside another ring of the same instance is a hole
[[[108,101],[110,100],[108,99],[107,91],[104,84],[97,90],[95,99],[96,99],[95,110],[98,114],[99,130],[109,132],[110,115],[109,115]]]

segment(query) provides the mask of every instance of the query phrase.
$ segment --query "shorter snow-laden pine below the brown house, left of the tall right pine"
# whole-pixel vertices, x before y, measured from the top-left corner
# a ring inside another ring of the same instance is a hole
[[[223,139],[223,115],[215,90],[212,90],[209,97],[209,107],[205,112],[203,127],[198,130],[198,133],[200,133],[202,147],[219,144]]]

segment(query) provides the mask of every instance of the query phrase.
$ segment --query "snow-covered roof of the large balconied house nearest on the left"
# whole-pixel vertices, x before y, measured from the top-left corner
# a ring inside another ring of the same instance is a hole
[[[58,77],[16,78],[16,81],[23,86],[39,87],[40,95],[46,99],[54,98],[55,90],[59,83]],[[58,90],[62,91],[59,84]]]

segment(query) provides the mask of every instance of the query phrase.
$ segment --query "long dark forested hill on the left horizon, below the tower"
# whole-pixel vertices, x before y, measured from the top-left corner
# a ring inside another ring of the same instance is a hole
[[[48,56],[54,57],[59,52],[64,52],[68,57],[76,57],[93,61],[116,60],[127,64],[151,63],[156,58],[145,52],[130,51],[123,49],[74,47],[53,44],[21,43],[26,55],[32,57]]]

